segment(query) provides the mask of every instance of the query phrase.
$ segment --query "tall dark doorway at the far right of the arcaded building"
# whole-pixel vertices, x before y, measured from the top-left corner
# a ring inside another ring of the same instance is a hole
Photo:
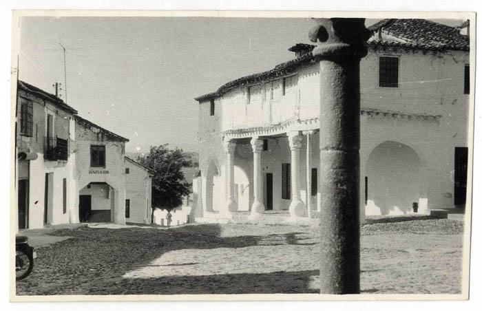
[[[467,194],[468,147],[455,147],[454,162],[454,204],[465,206]]]

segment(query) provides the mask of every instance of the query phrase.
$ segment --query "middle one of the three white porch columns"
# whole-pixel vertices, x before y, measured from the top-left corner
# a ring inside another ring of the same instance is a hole
[[[251,206],[251,217],[256,218],[264,213],[264,204],[261,201],[262,193],[262,171],[261,171],[261,153],[263,151],[263,141],[258,137],[251,139],[251,147],[253,147],[253,193],[254,202]]]

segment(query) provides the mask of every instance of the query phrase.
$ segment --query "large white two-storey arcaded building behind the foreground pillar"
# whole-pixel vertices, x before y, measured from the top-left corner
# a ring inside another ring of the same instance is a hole
[[[362,214],[463,206],[468,36],[421,19],[386,19],[369,29],[368,55],[360,63]],[[317,216],[323,72],[313,45],[290,50],[295,59],[196,98],[196,221],[253,215],[255,208]],[[261,174],[254,180],[257,168]],[[300,189],[293,189],[294,178]]]

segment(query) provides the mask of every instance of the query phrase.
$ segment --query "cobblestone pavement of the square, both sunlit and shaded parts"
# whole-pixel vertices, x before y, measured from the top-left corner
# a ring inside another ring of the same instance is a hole
[[[457,293],[462,224],[371,219],[362,226],[362,293]],[[315,293],[317,228],[196,224],[56,230],[17,294]]]

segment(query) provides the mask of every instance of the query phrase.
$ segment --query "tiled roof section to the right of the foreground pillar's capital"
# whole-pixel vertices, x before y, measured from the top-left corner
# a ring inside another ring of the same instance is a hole
[[[469,50],[469,38],[458,28],[426,19],[382,19],[368,27],[371,32],[385,32],[427,50]]]

